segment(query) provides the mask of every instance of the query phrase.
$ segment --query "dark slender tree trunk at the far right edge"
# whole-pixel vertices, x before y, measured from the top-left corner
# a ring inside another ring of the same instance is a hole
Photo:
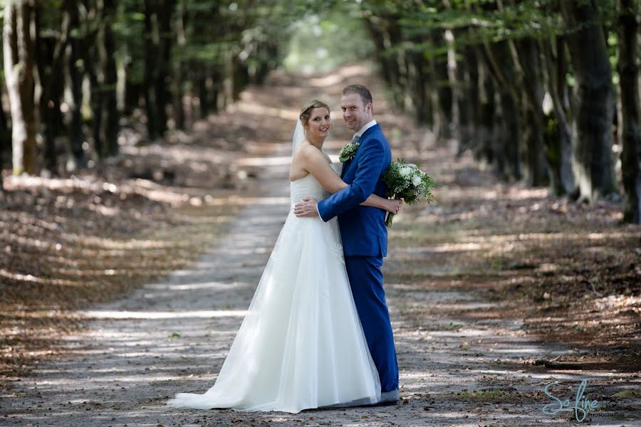
[[[620,141],[621,167],[625,208],[623,220],[641,224],[641,130],[639,106],[639,69],[637,31],[639,4],[637,0],[617,0],[617,70],[620,76],[621,114]]]

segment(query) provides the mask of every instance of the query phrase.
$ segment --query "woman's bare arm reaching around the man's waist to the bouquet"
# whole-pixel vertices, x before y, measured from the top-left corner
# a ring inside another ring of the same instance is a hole
[[[345,184],[345,181],[340,179],[340,176],[334,172],[334,169],[332,169],[330,164],[327,162],[327,159],[325,159],[325,156],[319,149],[308,145],[306,147],[301,147],[301,154],[303,169],[312,174],[325,190],[334,194],[336,191],[340,191],[348,186],[348,184]],[[377,196],[376,194],[370,194],[368,199],[361,203],[361,206],[373,206],[375,208],[396,213],[400,204],[402,204],[402,201],[385,199]]]

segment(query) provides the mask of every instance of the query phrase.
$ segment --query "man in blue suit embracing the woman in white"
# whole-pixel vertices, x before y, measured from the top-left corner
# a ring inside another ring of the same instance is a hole
[[[355,132],[352,142],[359,143],[354,157],[343,164],[340,175],[349,186],[318,202],[303,199],[294,207],[294,214],[320,216],[323,221],[338,216],[345,268],[380,377],[379,404],[395,404],[399,400],[398,365],[380,270],[382,258],[387,255],[385,211],[360,206],[372,193],[386,197],[382,174],[392,162],[392,153],[374,120],[368,88],[363,85],[343,88],[340,108],[348,128]]]

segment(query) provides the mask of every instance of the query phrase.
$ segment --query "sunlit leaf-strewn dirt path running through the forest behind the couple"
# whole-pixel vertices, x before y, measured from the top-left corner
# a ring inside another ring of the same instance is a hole
[[[304,87],[281,82],[282,86],[272,90],[288,90],[288,96],[298,103],[320,94],[338,105],[338,90],[346,80],[355,78],[368,82],[375,93],[381,90],[380,83],[358,67],[344,69],[337,78],[306,79]],[[264,92],[250,91],[235,112],[261,115],[260,120],[280,120],[283,126],[293,123],[296,102],[288,110],[261,105]],[[384,130],[385,122],[394,120],[391,114],[381,108],[377,116]],[[342,129],[340,115],[333,118],[335,128]],[[340,129],[338,137],[328,143],[331,153],[337,152],[347,135]],[[395,138],[394,133],[390,131],[390,139]],[[271,142],[266,154],[239,160],[239,167],[260,177],[255,181],[260,188],[252,191],[259,196],[236,200],[246,206],[229,222],[224,236],[211,242],[197,264],[177,270],[159,283],[149,283],[125,299],[78,313],[87,317],[86,328],[66,337],[68,357],[44,362],[32,376],[16,383],[15,394],[2,399],[0,426],[578,424],[570,411],[556,416],[541,411],[544,404],[552,403],[543,388],[558,381],[562,386],[555,393],[573,401],[582,379],[588,379],[591,396],[593,386],[605,381],[603,373],[553,371],[528,363],[528,359],[553,359],[579,350],[528,336],[522,319],[501,315],[501,302],[471,292],[474,284],[460,287],[451,285],[450,280],[432,280],[424,285],[414,277],[438,277],[442,265],[428,259],[429,251],[402,246],[390,246],[384,266],[400,367],[401,405],[298,414],[166,406],[167,399],[179,391],[202,393],[214,384],[288,211],[289,144],[283,135],[280,141]],[[451,158],[447,162],[435,159],[434,167],[448,167],[454,161],[448,153],[441,150],[435,154]],[[434,171],[437,176],[440,173]],[[452,209],[442,207],[442,213],[434,211],[433,215],[445,215]],[[402,228],[398,230],[392,228],[390,238],[400,236]],[[439,248],[447,244],[454,245],[453,238],[444,238]],[[408,257],[422,257],[422,262],[415,264],[420,271],[399,271]],[[464,263],[465,258],[458,262]],[[630,378],[623,374],[607,375],[608,384],[627,381]],[[604,387],[600,391],[606,395],[616,389]],[[626,420],[630,412],[626,414],[619,411],[614,416],[592,418],[591,425],[641,425],[634,418]]]

